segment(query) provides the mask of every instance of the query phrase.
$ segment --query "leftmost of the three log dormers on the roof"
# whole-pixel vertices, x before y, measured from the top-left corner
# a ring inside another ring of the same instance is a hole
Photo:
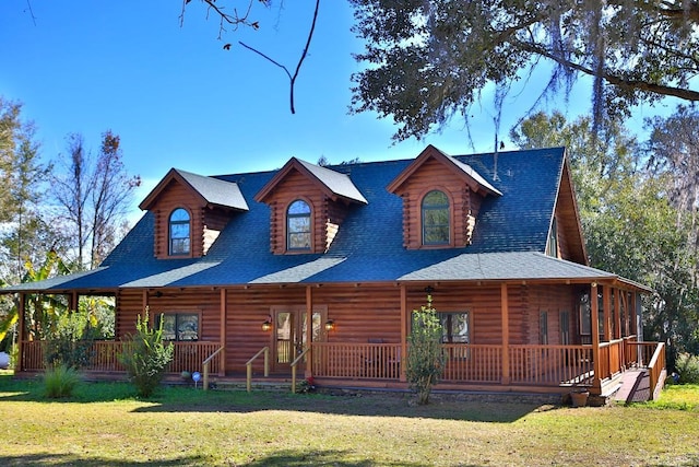
[[[155,214],[158,259],[200,258],[235,212],[248,210],[233,182],[171,168],[139,208]]]

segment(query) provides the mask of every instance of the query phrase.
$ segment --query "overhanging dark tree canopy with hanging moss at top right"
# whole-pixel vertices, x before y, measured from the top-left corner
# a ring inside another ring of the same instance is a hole
[[[507,93],[541,65],[553,69],[541,97],[592,78],[595,122],[664,96],[699,101],[690,89],[699,71],[696,1],[351,3],[354,31],[366,42],[356,55],[366,66],[353,77],[352,109],[392,116],[396,140],[466,115],[488,86]]]

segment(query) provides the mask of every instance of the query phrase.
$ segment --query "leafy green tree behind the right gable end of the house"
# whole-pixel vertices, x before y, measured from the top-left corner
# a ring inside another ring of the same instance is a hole
[[[672,362],[677,351],[699,351],[697,256],[687,242],[691,224],[688,218],[678,222],[667,189],[672,173],[645,171],[641,145],[623,126],[606,128],[595,139],[589,118],[568,124],[560,114],[538,114],[511,135],[522,147],[540,144],[541,135],[547,145],[569,147],[590,262],[654,290],[644,301],[644,337],[667,342]]]

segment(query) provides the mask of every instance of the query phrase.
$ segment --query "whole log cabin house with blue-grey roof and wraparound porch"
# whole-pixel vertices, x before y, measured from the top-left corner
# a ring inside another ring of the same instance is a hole
[[[2,291],[19,293],[21,319],[29,294],[73,307],[114,295],[116,339],[95,343],[86,371],[123,374],[120,338],[147,308],[175,342],[173,375],[249,384],[298,371],[320,386],[404,389],[411,313],[430,294],[447,358],[436,390],[604,396],[636,367],[651,396],[662,387],[664,347],[642,341],[650,291],[588,265],[564,148],[173,168],[140,208],[97,269]],[[25,330],[20,342],[16,371],[40,371],[40,342]]]

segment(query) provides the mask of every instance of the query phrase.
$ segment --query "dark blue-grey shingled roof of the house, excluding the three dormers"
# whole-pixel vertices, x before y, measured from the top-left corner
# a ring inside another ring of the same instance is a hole
[[[153,255],[154,215],[145,213],[99,269],[56,278],[46,283],[20,284],[8,291],[620,279],[609,272],[544,255],[565,165],[562,148],[500,152],[497,155],[497,177],[493,172],[494,154],[452,157],[473,167],[485,183],[501,194],[484,199],[469,246],[405,249],[402,200],[387,187],[413,160],[357,163],[328,168],[332,173],[344,174],[342,183],[351,180],[366,203],[348,207],[342,229],[325,254],[272,254],[270,208],[253,201],[247,212],[232,218],[205,257],[156,259]],[[316,168],[309,170],[318,175]],[[269,187],[277,175],[279,171],[222,175],[215,179],[232,186],[235,184],[242,198],[253,200],[256,194]],[[323,183],[336,187],[340,179],[325,179]]]

